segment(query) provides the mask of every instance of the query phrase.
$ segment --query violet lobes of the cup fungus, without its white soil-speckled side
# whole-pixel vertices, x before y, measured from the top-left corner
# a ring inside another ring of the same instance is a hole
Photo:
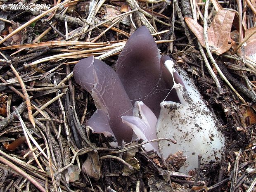
[[[76,64],[73,69],[75,81],[92,95],[97,107],[97,111],[87,123],[93,133],[114,135],[119,144],[122,139],[130,142],[133,131],[129,126],[133,124],[133,127],[137,125],[139,129],[142,128],[140,133],[147,133],[147,129],[150,130],[148,133],[152,133],[144,137],[139,134],[141,138],[156,138],[153,130],[155,119],[159,116],[160,103],[163,100],[179,101],[175,90],[171,90],[174,83],[170,72],[164,66],[166,59],[170,57],[162,56],[160,62],[156,42],[148,29],[142,26],[130,36],[123,48],[116,63],[117,73],[93,57],[82,59]],[[134,111],[137,110],[137,114],[142,115],[136,115],[133,119],[134,103]],[[148,121],[151,117],[146,118],[143,115],[143,111],[149,110],[150,116],[154,114],[154,123]],[[123,118],[124,123],[122,116],[126,116]],[[144,125],[140,124],[140,118],[145,122]]]

